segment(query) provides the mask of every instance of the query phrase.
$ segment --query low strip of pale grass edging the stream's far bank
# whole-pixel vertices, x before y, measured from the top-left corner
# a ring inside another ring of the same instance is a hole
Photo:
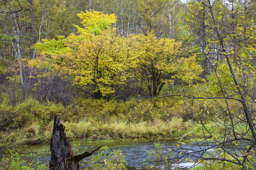
[[[140,123],[122,122],[112,119],[110,122],[101,122],[93,119],[79,122],[64,122],[65,133],[69,140],[194,140],[204,138],[202,125],[192,121],[183,122],[181,118],[170,121],[155,120]],[[205,124],[214,136],[219,136],[221,129],[213,122]],[[27,144],[49,142],[52,136],[53,122],[41,127],[37,122],[29,127],[0,132],[0,143]],[[210,135],[206,135],[210,136]]]

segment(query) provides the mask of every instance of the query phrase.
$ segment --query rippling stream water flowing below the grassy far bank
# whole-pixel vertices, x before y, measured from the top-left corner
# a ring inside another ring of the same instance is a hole
[[[165,140],[161,141],[167,147],[177,148],[177,145],[182,145],[175,140]],[[95,147],[100,145],[107,146],[110,150],[121,150],[124,155],[126,155],[127,168],[128,170],[139,170],[143,168],[142,162],[145,160],[149,160],[148,152],[155,150],[155,142],[134,142],[134,141],[73,141],[73,147],[77,148],[80,153],[85,152],[86,150],[92,150]],[[205,143],[197,143],[197,144],[185,144],[182,146],[183,151],[196,151],[200,150],[200,148],[206,148]],[[16,149],[19,153],[23,153],[26,156],[29,156],[31,153],[37,153],[40,155],[39,161],[41,162],[49,162],[50,161],[50,144],[42,143],[37,145],[18,145],[13,148],[9,146],[0,147],[0,155],[6,153],[8,149]],[[209,152],[212,152],[212,148],[209,149]],[[167,150],[163,150],[163,152],[167,152]],[[94,153],[97,154],[97,153]],[[196,153],[198,154],[198,153]],[[195,155],[196,157],[196,155]],[[190,156],[191,160],[195,161],[193,155]],[[150,163],[149,163],[150,165]],[[191,168],[194,165],[194,162],[184,162],[182,161],[179,165],[176,165],[175,170],[186,170]]]

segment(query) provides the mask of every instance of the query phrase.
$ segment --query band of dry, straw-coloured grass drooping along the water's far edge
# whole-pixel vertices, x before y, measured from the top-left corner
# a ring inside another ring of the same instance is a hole
[[[73,139],[151,139],[167,138],[179,133],[183,128],[183,119],[173,118],[169,122],[155,120],[131,123],[122,121],[98,122],[89,121],[64,122],[66,136]],[[2,144],[22,144],[24,141],[38,137],[42,142],[49,142],[53,122],[45,128],[37,124],[16,131],[0,132]],[[41,129],[41,130],[40,130]]]

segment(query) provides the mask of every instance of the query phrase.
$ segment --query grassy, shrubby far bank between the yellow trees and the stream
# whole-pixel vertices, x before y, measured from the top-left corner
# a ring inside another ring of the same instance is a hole
[[[221,137],[223,131],[216,117],[211,116],[217,109],[206,107],[203,100],[193,104],[175,98],[156,102],[76,99],[64,106],[30,98],[15,105],[2,102],[0,106],[1,144],[49,142],[54,116],[61,117],[70,140],[204,138],[199,114],[211,135]]]

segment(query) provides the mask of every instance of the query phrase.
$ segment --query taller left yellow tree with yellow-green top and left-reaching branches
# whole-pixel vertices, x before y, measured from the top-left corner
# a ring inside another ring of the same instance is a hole
[[[32,67],[42,67],[61,61],[61,72],[72,76],[77,88],[95,98],[110,97],[128,76],[127,40],[110,28],[116,22],[114,14],[86,11],[78,16],[84,26],[74,25],[78,34],[36,43],[34,48],[40,58],[29,63]]]

